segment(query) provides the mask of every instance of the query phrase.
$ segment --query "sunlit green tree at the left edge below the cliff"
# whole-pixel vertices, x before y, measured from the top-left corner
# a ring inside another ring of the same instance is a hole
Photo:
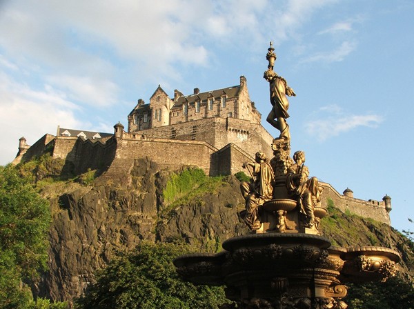
[[[48,201],[37,195],[30,179],[13,166],[0,166],[0,308],[66,307],[33,301],[30,288],[22,284],[46,269],[50,220]]]

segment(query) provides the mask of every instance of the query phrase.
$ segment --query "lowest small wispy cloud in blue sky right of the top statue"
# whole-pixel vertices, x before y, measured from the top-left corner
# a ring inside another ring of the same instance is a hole
[[[377,128],[382,121],[384,118],[378,114],[351,114],[337,105],[331,105],[324,106],[313,114],[305,129],[308,134],[316,136],[322,142],[361,126]]]

